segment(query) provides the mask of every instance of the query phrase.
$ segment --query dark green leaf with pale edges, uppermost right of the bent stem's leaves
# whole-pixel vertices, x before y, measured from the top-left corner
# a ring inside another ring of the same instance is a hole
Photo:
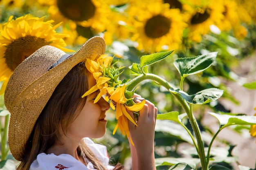
[[[217,52],[213,52],[196,57],[179,58],[174,62],[174,66],[182,77],[186,77],[209,68],[215,61],[216,56]]]

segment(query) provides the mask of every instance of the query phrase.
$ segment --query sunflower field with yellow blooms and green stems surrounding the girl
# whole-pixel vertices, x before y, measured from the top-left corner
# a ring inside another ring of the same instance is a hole
[[[106,82],[124,97],[110,100],[136,112],[124,104],[135,92],[158,108],[157,170],[255,169],[255,11],[254,0],[1,0],[0,169],[19,163],[9,151],[4,106],[15,68],[42,46],[72,54],[96,35],[114,56]],[[239,88],[232,91],[230,84]],[[244,100],[252,104],[232,109]],[[107,119],[106,135],[95,141],[107,146],[112,164],[130,170],[126,123],[133,120],[115,106]],[[237,149],[238,137],[254,141],[247,146],[251,153]]]

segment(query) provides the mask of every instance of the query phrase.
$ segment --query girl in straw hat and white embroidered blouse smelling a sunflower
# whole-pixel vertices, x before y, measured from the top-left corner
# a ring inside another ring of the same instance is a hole
[[[84,61],[104,52],[101,37],[91,38],[74,55],[43,46],[13,72],[4,103],[11,113],[10,151],[21,161],[17,170],[122,169],[110,166],[106,146],[90,139],[106,132],[108,102],[101,97],[94,104],[99,91],[81,97],[96,84]],[[129,122],[132,170],[155,170],[157,108],[146,101],[139,114],[136,128]]]

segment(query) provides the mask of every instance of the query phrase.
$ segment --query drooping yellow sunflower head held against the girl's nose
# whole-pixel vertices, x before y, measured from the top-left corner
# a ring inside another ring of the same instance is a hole
[[[94,56],[92,59],[86,60],[85,66],[88,71],[92,73],[94,79],[96,79],[96,84],[85,92],[82,97],[90,95],[99,89],[100,92],[95,98],[94,103],[97,103],[102,95],[106,95],[106,101],[110,101],[111,108],[116,110],[117,125],[113,134],[115,134],[119,127],[123,135],[130,137],[128,120],[136,126],[137,124],[129,115],[127,110],[138,112],[144,107],[146,101],[144,100],[143,102],[134,104],[134,102],[131,102],[131,99],[126,99],[126,85],[121,84],[121,82],[117,80],[117,76],[119,76],[119,74],[115,76],[111,72],[116,72],[115,69],[110,68],[112,58],[113,57],[109,57],[108,55],[101,55],[99,58]]]

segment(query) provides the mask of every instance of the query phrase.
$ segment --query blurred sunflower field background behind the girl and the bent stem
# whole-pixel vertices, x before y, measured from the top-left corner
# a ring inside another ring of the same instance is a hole
[[[217,51],[216,62],[204,73],[185,79],[184,91],[195,94],[205,88],[224,90],[222,97],[203,107],[195,116],[203,139],[216,132],[218,122],[207,111],[254,115],[256,81],[256,1],[255,0],[1,0],[0,1],[0,168],[17,163],[8,150],[9,113],[3,102],[5,86],[13,70],[43,45],[56,46],[67,53],[77,51],[95,35],[107,44],[106,53],[115,55],[117,66],[130,66],[142,55],[175,49],[171,56],[149,68],[179,87],[180,77],[173,62]],[[124,70],[124,79],[130,71]],[[152,82],[141,83],[136,93],[154,102],[159,113],[182,107],[175,98]],[[130,150],[126,137],[117,131],[115,112],[109,111],[108,130],[97,142],[108,147],[113,164],[130,169]],[[190,124],[187,127],[191,129]],[[228,148],[221,165],[238,169],[238,163],[254,169],[256,140],[249,126],[223,130],[214,146]],[[157,124],[155,157],[195,158],[186,131],[173,122]],[[222,152],[216,152],[217,156]],[[6,161],[8,160],[8,161]],[[8,163],[6,163],[8,162]],[[11,162],[11,163],[10,163]],[[168,169],[159,166],[158,169]]]

